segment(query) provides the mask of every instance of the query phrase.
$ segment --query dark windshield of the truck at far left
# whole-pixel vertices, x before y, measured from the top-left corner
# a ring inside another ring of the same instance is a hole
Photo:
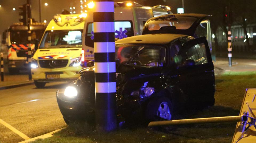
[[[43,30],[32,30],[31,31],[31,42],[34,44],[35,39],[41,39]],[[10,39],[12,44],[28,44],[27,31],[15,30],[10,32]]]

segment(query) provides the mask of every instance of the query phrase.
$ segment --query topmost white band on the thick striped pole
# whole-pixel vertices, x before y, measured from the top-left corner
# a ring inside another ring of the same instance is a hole
[[[94,2],[94,12],[114,12],[114,2]]]

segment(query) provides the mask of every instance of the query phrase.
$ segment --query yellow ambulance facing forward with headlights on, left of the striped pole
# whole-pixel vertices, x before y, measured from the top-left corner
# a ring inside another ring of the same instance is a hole
[[[83,68],[82,32],[86,14],[55,15],[32,57],[31,74],[37,88],[53,81],[79,77]]]

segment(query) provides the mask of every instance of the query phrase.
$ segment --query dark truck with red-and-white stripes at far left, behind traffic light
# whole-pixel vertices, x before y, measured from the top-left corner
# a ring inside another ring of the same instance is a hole
[[[31,29],[31,50],[34,53],[35,44],[41,39],[46,25],[44,23],[32,23]],[[22,23],[14,23],[5,31],[6,45],[8,47],[7,60],[10,74],[17,74],[19,70],[27,70],[27,26]]]

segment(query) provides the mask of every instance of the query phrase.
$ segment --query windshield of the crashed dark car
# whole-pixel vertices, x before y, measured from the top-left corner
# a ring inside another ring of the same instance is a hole
[[[165,48],[162,46],[116,45],[115,51],[117,64],[163,66],[166,61]]]

